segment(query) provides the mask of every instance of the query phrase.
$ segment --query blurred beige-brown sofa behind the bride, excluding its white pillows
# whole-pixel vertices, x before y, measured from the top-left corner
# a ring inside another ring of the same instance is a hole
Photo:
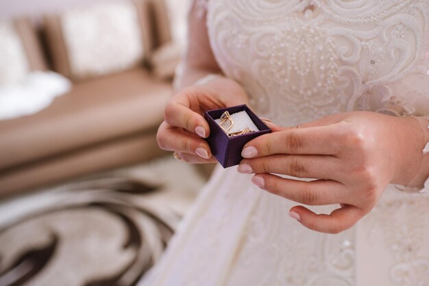
[[[147,62],[171,44],[171,34],[162,1],[142,0],[138,5],[145,58],[138,66],[102,77],[74,79],[66,73],[58,30],[51,25],[55,16],[45,17],[37,34],[29,21],[16,22],[26,35],[32,69],[47,66],[73,79],[73,88],[38,114],[0,121],[0,195],[162,154],[156,130],[171,96],[171,81],[154,75]],[[46,49],[40,49],[41,39]]]

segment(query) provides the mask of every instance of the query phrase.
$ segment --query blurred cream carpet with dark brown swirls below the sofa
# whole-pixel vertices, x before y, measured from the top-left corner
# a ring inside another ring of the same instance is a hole
[[[205,181],[158,159],[0,202],[0,286],[135,285]]]

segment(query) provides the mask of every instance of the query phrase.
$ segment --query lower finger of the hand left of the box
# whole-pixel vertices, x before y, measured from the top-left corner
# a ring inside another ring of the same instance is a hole
[[[160,125],[156,139],[160,148],[165,151],[189,153],[204,159],[212,157],[210,146],[208,146],[206,140],[186,133],[182,129],[171,127],[166,122],[162,122]]]

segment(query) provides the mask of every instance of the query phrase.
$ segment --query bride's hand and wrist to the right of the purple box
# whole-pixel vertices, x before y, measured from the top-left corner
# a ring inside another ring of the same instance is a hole
[[[410,183],[426,144],[415,118],[374,112],[347,112],[293,128],[270,127],[273,133],[245,145],[242,155],[248,159],[238,171],[255,173],[256,185],[297,203],[340,204],[330,215],[302,206],[291,209],[291,217],[323,233],[339,233],[356,224],[389,183]],[[283,179],[273,173],[315,180]]]

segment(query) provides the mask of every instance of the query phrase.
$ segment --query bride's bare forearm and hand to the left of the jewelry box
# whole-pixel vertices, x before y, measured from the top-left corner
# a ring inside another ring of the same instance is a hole
[[[195,3],[188,16],[188,49],[175,79],[175,94],[164,110],[164,122],[157,133],[158,145],[173,151],[183,161],[212,163],[210,147],[204,138],[210,134],[203,117],[206,110],[248,103],[243,88],[221,75],[210,48],[206,17],[198,16]],[[210,80],[200,81],[208,75]]]

